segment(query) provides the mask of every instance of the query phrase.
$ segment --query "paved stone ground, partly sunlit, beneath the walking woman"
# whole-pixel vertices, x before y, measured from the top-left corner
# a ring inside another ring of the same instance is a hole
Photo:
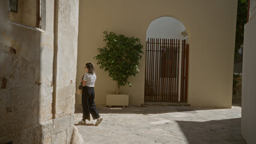
[[[197,143],[243,144],[241,107],[214,109],[184,106],[97,106],[103,117],[78,124],[82,106],[76,105],[75,125],[85,143]]]

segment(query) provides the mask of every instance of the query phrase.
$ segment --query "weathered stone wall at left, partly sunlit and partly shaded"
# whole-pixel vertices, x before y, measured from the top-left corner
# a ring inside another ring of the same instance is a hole
[[[0,1],[0,143],[71,140],[79,1],[42,3],[45,31],[8,22]]]

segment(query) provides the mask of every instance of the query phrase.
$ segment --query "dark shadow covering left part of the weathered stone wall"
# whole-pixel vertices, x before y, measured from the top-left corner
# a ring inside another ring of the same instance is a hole
[[[0,143],[40,143],[41,32],[8,22],[8,1],[0,25]]]

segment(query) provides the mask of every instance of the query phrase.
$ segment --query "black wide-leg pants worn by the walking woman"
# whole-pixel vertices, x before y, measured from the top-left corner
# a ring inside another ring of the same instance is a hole
[[[97,119],[100,117],[96,109],[94,97],[94,87],[84,86],[82,92],[83,121],[85,121],[85,119],[88,119],[90,121],[90,113],[91,116],[93,116],[93,119]]]

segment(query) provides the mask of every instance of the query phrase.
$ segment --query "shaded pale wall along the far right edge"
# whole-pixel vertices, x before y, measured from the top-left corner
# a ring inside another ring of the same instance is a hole
[[[256,5],[255,7],[256,8]],[[256,143],[256,16],[245,25],[242,80],[242,136]]]

